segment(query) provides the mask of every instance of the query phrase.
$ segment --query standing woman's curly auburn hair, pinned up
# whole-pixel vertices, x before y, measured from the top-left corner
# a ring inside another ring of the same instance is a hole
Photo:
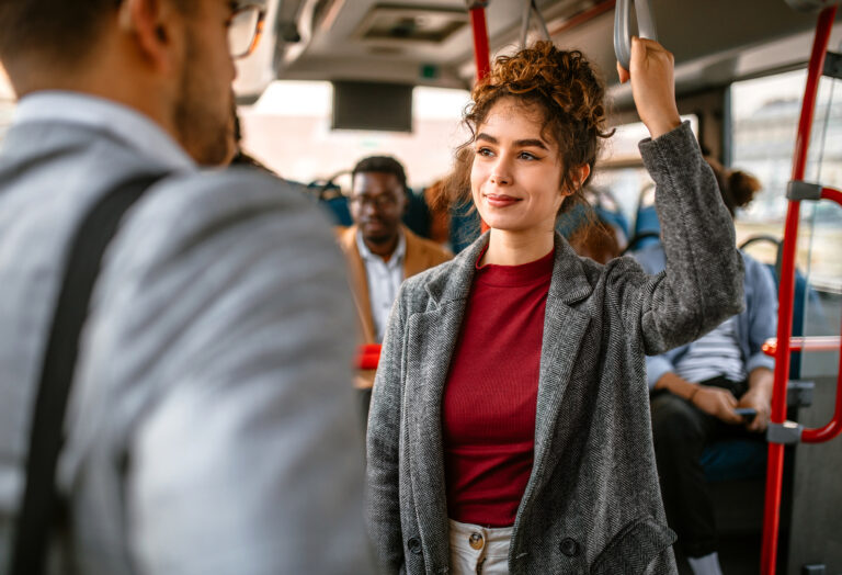
[[[605,87],[581,52],[561,50],[546,41],[514,56],[497,58],[491,72],[474,88],[463,117],[471,137],[456,150],[456,165],[447,180],[448,200],[470,200],[474,150],[469,146],[493,105],[504,98],[539,114],[542,135],[558,145],[562,166],[559,184],[573,190],[559,214],[584,202],[582,189],[590,176],[580,184],[572,168],[587,164],[593,174],[601,142],[614,133],[606,129]]]

